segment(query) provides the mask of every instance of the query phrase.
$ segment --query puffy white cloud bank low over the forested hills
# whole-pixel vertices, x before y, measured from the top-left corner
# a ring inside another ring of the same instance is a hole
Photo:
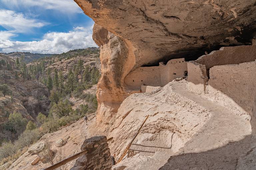
[[[68,33],[50,32],[41,41],[20,42],[0,40],[2,52],[62,53],[70,49],[97,46],[92,39],[92,26],[76,27]]]

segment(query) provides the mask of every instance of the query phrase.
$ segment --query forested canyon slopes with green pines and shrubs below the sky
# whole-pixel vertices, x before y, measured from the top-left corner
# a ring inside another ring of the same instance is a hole
[[[24,55],[15,60],[2,55],[1,164],[15,159],[43,134],[95,112],[95,93],[88,93],[87,89],[97,84],[99,68],[98,48],[71,50],[28,64]],[[26,94],[29,95],[25,99]]]

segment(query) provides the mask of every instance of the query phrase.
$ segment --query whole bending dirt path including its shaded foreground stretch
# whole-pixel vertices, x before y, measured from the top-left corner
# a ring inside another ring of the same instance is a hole
[[[211,119],[189,140],[179,153],[171,156],[159,170],[254,170],[255,136],[251,125],[214,102],[186,90],[186,82],[173,83],[173,89],[212,112]]]

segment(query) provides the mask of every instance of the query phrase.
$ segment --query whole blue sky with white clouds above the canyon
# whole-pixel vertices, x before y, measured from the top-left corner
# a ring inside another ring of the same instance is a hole
[[[0,52],[62,53],[97,46],[73,0],[0,0]]]

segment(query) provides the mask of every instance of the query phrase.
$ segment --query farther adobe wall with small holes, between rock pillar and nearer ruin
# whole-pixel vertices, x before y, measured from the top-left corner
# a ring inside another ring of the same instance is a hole
[[[139,67],[130,72],[124,82],[130,89],[140,89],[141,85],[164,86],[173,79],[184,76],[187,71],[187,62],[184,58],[172,59],[167,64],[159,66]]]

